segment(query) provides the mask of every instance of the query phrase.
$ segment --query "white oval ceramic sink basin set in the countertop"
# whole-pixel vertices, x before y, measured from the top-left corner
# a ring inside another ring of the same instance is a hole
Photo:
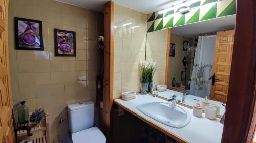
[[[183,128],[191,120],[190,113],[183,107],[173,108],[169,103],[151,102],[137,106],[148,117],[174,128]]]

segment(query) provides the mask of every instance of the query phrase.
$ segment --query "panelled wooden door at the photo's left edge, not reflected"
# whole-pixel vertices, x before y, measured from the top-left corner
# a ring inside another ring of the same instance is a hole
[[[0,0],[0,143],[15,142],[8,57],[8,0]]]

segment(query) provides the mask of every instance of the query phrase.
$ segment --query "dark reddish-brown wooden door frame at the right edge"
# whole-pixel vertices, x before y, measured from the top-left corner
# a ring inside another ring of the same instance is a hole
[[[252,142],[256,112],[256,1],[237,0],[237,18],[222,142]]]

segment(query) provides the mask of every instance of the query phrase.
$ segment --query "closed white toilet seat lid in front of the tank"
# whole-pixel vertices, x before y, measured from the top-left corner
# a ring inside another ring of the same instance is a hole
[[[97,127],[92,127],[72,134],[73,143],[105,143],[104,134]]]

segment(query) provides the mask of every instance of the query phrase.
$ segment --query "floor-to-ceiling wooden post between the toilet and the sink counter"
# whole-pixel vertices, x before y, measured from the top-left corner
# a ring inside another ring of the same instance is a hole
[[[104,5],[104,79],[103,79],[103,132],[111,142],[111,109],[113,104],[114,59],[114,2]]]

